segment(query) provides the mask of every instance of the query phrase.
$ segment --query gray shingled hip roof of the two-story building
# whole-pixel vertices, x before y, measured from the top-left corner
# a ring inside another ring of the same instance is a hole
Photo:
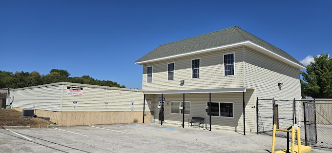
[[[268,49],[277,55],[285,57],[285,58],[289,59],[290,61],[293,61],[301,66],[304,66],[299,61],[297,61],[294,57],[291,57],[285,51],[248,33],[247,31],[244,31],[243,29],[241,29],[237,26],[160,45],[159,47],[157,47],[156,49],[154,49],[153,51],[146,54],[144,57],[138,59],[135,62],[152,60],[152,59],[157,59],[157,58],[162,58],[162,57],[169,57],[169,56],[189,53],[192,51],[243,42],[243,41],[247,41],[247,40],[255,43],[256,45],[264,47],[265,49]]]

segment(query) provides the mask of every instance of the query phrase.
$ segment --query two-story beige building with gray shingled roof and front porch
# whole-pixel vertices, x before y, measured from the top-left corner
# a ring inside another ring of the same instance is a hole
[[[165,97],[165,123],[182,124],[185,101],[185,122],[205,117],[208,124],[211,115],[212,128],[246,132],[256,131],[257,97],[300,99],[299,70],[305,69],[237,26],[160,45],[135,64],[143,65],[143,91],[155,119],[161,120],[159,97]]]

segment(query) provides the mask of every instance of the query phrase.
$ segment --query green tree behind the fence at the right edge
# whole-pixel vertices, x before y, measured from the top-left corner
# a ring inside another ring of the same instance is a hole
[[[314,62],[307,65],[301,81],[302,96],[332,98],[332,58],[328,54],[315,56]]]

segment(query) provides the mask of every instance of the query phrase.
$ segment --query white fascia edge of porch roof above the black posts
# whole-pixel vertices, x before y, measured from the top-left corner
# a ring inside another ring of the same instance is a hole
[[[199,93],[242,93],[246,88],[226,89],[196,89],[196,90],[167,90],[167,91],[143,91],[144,94],[199,94]]]

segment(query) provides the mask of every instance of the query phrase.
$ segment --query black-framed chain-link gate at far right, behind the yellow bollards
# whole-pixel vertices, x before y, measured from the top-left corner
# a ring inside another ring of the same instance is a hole
[[[306,145],[332,149],[332,101],[304,102],[303,110]]]

